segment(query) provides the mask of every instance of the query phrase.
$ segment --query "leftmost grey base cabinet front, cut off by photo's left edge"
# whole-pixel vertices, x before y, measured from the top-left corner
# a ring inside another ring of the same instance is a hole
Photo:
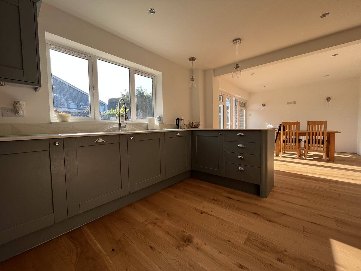
[[[0,245],[68,218],[63,139],[0,142]]]

